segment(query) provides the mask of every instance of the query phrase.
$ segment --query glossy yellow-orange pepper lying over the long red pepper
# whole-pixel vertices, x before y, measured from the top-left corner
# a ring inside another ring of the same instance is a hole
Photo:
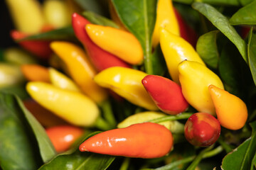
[[[129,64],[142,64],[143,50],[139,40],[125,30],[87,24],[86,32],[92,42]]]

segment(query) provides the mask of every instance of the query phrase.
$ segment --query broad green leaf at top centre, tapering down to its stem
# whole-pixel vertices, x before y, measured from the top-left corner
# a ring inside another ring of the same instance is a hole
[[[124,26],[133,33],[144,50],[144,67],[153,74],[151,35],[156,21],[156,0],[112,0]]]

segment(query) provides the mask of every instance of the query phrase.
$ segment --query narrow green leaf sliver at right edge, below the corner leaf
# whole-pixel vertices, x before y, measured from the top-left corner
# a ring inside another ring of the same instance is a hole
[[[248,60],[253,81],[256,85],[256,35],[250,30],[248,38]]]

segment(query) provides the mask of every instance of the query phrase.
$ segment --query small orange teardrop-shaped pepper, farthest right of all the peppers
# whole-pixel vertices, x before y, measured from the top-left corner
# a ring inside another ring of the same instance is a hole
[[[217,86],[210,85],[208,89],[213,99],[220,125],[230,130],[242,128],[248,117],[245,103],[237,96]]]

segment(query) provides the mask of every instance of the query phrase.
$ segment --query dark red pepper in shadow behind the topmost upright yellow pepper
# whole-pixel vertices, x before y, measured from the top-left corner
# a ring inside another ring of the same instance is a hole
[[[193,45],[193,47],[196,47],[196,42],[198,39],[196,31],[193,30],[191,26],[188,26],[188,24],[183,20],[181,14],[177,11],[176,8],[174,8],[174,12],[178,19],[178,26],[180,28],[181,37],[188,41],[191,45]]]

